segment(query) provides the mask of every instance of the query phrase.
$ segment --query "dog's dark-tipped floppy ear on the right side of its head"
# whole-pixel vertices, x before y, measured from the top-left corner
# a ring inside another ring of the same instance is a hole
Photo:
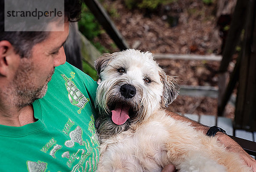
[[[174,77],[166,75],[162,69],[158,71],[160,80],[163,83],[162,107],[168,107],[178,96],[180,86]]]

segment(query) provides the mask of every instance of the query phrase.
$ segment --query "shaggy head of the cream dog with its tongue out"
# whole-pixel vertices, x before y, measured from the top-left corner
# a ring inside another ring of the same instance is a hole
[[[175,79],[164,73],[150,52],[129,49],[104,54],[96,59],[95,68],[101,80],[96,97],[99,122],[116,132],[167,107],[179,93]]]

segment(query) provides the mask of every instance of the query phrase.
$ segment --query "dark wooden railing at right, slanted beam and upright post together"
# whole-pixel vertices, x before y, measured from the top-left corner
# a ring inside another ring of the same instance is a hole
[[[256,2],[255,0],[237,0],[233,20],[223,58],[219,69],[218,115],[223,114],[236,83],[239,83],[236,99],[235,128],[256,131]],[[242,32],[244,29],[244,32]],[[244,33],[244,34],[242,34]],[[243,39],[241,39],[243,37]],[[227,67],[238,42],[243,42],[236,66],[228,85]]]

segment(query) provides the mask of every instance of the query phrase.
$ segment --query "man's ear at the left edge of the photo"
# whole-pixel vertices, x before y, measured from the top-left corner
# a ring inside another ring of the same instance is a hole
[[[7,76],[11,69],[20,64],[20,56],[15,53],[9,41],[0,41],[0,76]]]

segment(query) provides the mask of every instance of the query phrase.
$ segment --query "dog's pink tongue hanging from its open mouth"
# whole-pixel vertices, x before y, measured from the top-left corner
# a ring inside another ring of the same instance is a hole
[[[122,125],[125,124],[129,117],[128,111],[130,109],[130,106],[125,105],[117,105],[114,110],[112,110],[112,121],[116,125]]]

